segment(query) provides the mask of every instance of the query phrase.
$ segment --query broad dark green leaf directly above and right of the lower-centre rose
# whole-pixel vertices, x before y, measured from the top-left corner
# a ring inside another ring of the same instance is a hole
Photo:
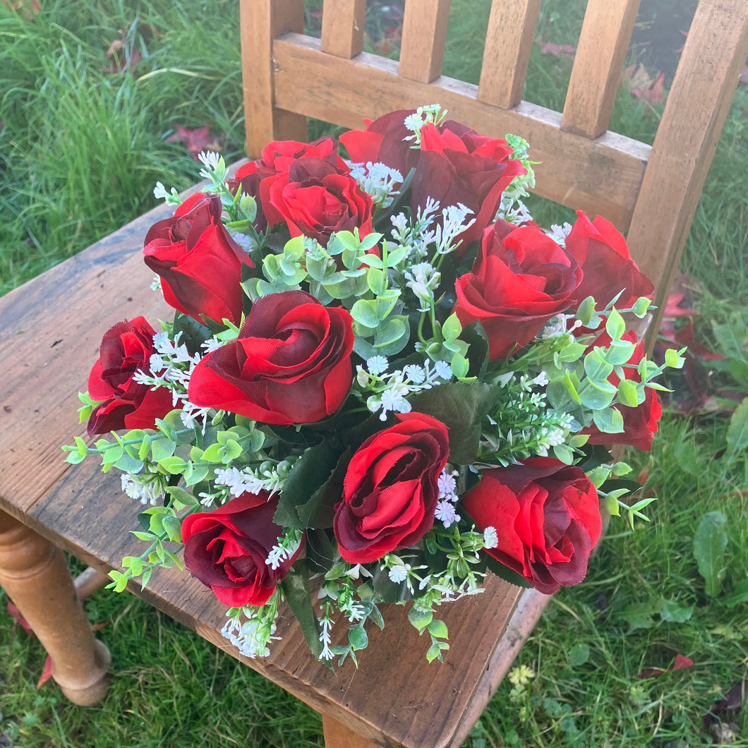
[[[450,435],[450,462],[475,461],[482,420],[494,406],[498,387],[481,381],[447,382],[411,398],[414,411],[438,418]]]

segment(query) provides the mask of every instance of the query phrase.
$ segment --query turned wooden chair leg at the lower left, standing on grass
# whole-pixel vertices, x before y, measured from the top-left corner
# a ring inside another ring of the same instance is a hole
[[[0,585],[52,657],[52,678],[74,704],[108,690],[108,649],[94,639],[63,552],[0,512]]]

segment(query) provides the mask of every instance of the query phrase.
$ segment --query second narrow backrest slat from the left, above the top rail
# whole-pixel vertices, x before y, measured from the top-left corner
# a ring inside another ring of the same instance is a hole
[[[400,70],[403,78],[430,83],[441,76],[450,0],[406,0]]]

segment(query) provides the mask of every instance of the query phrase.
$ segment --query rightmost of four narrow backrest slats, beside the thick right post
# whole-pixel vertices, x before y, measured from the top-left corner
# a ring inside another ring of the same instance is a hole
[[[597,138],[607,130],[639,1],[589,0],[566,93],[562,129],[588,138]]]

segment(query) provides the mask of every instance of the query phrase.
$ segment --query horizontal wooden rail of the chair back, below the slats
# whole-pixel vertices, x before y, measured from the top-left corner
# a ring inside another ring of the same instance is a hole
[[[355,60],[324,55],[319,40],[286,34],[274,46],[278,105],[311,117],[360,128],[363,117],[439,102],[450,117],[485,135],[515,132],[530,141],[542,162],[536,191],[543,197],[592,215],[602,213],[628,228],[649,157],[649,146],[607,132],[589,139],[560,129],[557,111],[521,102],[508,111],[476,100],[477,87],[441,76],[424,84],[397,75],[391,60],[362,52]],[[304,76],[300,71],[304,71]]]

